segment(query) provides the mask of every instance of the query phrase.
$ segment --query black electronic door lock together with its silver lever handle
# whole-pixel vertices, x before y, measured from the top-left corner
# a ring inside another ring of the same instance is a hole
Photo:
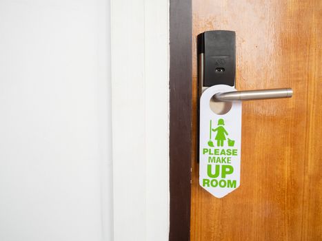
[[[213,85],[235,85],[235,39],[235,32],[225,30],[208,31],[198,35],[199,96]],[[212,101],[252,101],[268,98],[290,98],[292,95],[291,88],[246,90],[217,93]]]

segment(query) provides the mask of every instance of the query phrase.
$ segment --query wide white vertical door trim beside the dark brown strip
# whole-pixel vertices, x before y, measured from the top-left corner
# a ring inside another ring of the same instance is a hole
[[[168,240],[168,0],[112,0],[114,238]]]

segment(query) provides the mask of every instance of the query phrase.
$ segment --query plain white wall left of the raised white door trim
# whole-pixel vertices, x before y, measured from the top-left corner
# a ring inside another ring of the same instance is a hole
[[[108,0],[0,1],[0,240],[112,240]]]

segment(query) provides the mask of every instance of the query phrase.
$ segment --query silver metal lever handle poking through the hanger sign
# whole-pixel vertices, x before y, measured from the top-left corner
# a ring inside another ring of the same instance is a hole
[[[252,101],[265,100],[267,98],[290,98],[293,95],[291,88],[270,90],[244,90],[235,92],[217,93],[215,101]]]

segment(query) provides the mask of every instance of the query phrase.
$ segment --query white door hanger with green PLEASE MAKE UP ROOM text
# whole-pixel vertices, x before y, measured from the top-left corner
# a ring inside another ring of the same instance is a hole
[[[199,185],[217,198],[240,185],[241,101],[233,101],[225,114],[210,109],[214,94],[232,91],[234,87],[214,85],[200,99]]]

